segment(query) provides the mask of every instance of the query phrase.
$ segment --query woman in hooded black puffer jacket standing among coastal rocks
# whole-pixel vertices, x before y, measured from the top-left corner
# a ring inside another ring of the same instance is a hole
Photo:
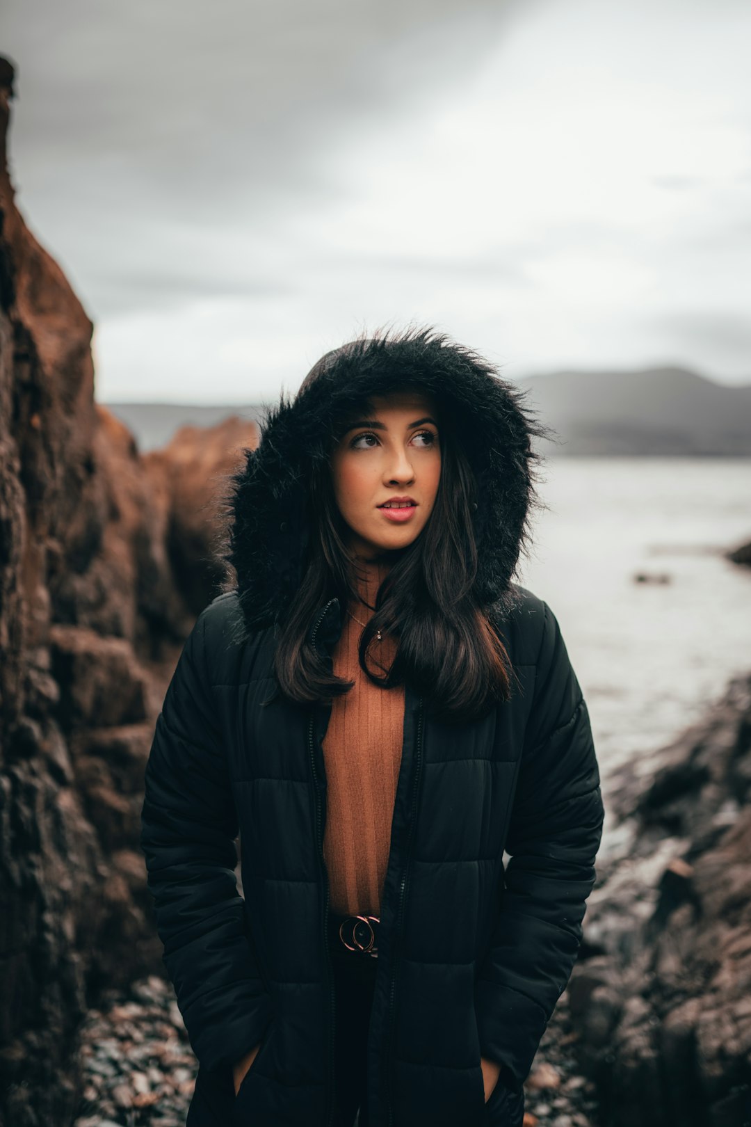
[[[189,1127],[521,1124],[602,827],[557,620],[511,579],[543,434],[476,354],[387,334],[231,479],[143,805]]]

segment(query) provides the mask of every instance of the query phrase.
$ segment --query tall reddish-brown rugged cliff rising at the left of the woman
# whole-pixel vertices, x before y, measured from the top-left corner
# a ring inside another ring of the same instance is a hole
[[[256,427],[142,458],[95,402],[91,321],[18,213],[0,60],[0,1122],[70,1122],[102,984],[162,973],[137,834],[212,499]],[[196,504],[196,499],[199,503]]]

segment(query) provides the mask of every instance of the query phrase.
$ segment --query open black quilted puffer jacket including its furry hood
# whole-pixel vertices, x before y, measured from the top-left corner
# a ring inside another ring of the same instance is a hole
[[[405,355],[405,354],[404,354]],[[408,371],[352,366],[267,412],[235,478],[238,588],[200,614],[157,721],[142,846],[164,964],[199,1062],[189,1127],[327,1127],[333,988],[321,740],[330,709],[271,695],[275,623],[302,578],[306,465],[329,411]],[[480,485],[482,602],[518,677],[462,726],[405,685],[368,1037],[373,1127],[517,1127],[522,1082],[581,940],[602,827],[587,704],[553,611],[511,582],[530,498],[529,418],[465,355],[411,380],[448,398]],[[341,631],[336,598],[309,644]],[[234,868],[240,833],[243,896]],[[504,851],[510,860],[504,868]],[[258,1042],[234,1097],[232,1064]],[[499,1062],[484,1103],[481,1056]]]

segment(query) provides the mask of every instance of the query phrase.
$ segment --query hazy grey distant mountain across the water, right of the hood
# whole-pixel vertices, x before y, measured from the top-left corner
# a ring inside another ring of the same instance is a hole
[[[680,367],[551,372],[518,381],[557,434],[546,454],[751,455],[751,384]]]

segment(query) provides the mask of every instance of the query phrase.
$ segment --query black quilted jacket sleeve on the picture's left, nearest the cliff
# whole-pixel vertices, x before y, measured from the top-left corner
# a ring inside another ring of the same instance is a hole
[[[205,659],[207,607],[167,690],[145,772],[141,848],[163,962],[202,1066],[231,1067],[272,1017],[238,893],[238,816]]]

